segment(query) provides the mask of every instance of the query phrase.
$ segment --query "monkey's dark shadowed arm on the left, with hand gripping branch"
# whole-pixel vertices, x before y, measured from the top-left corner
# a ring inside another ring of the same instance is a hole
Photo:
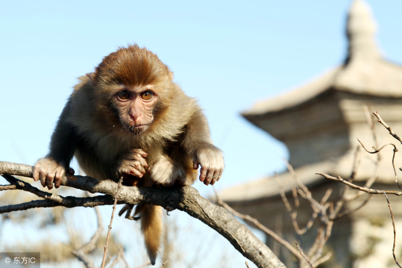
[[[70,109],[71,100],[67,102],[59,117],[51,137],[49,154],[39,159],[33,169],[33,179],[35,181],[40,180],[42,186],[47,186],[49,190],[53,188],[53,182],[55,188],[59,188],[62,177],[66,174],[66,169],[69,169],[70,161],[76,150],[76,128],[67,121]],[[70,174],[74,174],[73,169],[68,171]]]

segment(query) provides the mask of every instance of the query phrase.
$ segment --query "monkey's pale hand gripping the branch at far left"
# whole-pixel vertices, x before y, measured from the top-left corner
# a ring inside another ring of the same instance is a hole
[[[74,175],[74,169],[69,168],[68,173]],[[66,175],[66,167],[49,157],[39,159],[33,168],[34,181],[41,180],[42,186],[47,186],[49,190],[53,188],[53,182],[54,187],[59,188],[64,175]]]

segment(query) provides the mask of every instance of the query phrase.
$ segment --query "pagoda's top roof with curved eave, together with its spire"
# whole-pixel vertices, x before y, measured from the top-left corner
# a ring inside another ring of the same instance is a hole
[[[334,89],[361,95],[402,97],[402,66],[385,60],[375,42],[376,23],[363,0],[353,1],[347,22],[349,39],[345,63],[304,86],[278,97],[259,101],[242,115],[249,118],[301,105]]]

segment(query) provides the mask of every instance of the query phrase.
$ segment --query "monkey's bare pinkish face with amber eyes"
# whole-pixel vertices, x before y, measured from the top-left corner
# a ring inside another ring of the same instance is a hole
[[[113,96],[113,106],[118,111],[123,128],[133,134],[146,132],[154,121],[154,112],[159,96],[151,85],[126,87]]]

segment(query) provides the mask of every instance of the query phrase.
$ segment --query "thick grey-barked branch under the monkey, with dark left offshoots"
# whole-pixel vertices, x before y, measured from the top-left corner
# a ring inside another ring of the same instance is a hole
[[[33,167],[30,165],[9,163],[0,161],[1,175],[20,175],[32,177]],[[113,204],[113,196],[117,193],[118,183],[111,180],[97,180],[87,176],[68,175],[62,179],[62,186],[69,186],[91,193],[100,193],[107,196],[95,196],[88,198],[63,197],[43,191],[33,191],[29,183],[15,179],[10,184],[16,185],[18,190],[33,192],[38,196],[47,198],[45,200],[35,200],[28,203],[2,206],[0,213],[14,210],[24,210],[33,207],[49,206],[97,206]],[[23,183],[23,186],[20,184]],[[19,185],[19,186],[18,186]],[[36,188],[35,188],[36,189]],[[118,204],[147,204],[162,206],[167,210],[178,209],[187,212],[190,216],[199,219],[219,234],[223,235],[228,241],[246,258],[254,262],[258,267],[285,268],[285,265],[273,254],[260,239],[258,239],[245,225],[240,223],[225,208],[211,203],[209,200],[200,196],[199,192],[190,186],[181,188],[137,188],[135,186],[121,186],[117,196]]]

